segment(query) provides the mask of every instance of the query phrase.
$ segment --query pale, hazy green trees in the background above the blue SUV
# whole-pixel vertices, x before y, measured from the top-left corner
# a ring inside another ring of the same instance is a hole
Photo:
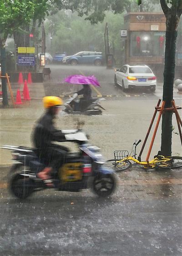
[[[122,53],[120,30],[123,27],[123,15],[114,15],[108,11],[104,22],[98,22],[96,25],[91,25],[90,21],[84,20],[85,18],[86,16],[77,16],[77,13],[73,13],[69,18],[64,11],[60,11],[55,16],[49,16],[49,21],[45,23],[45,31],[51,33],[51,29],[53,29],[53,39],[52,48],[47,47],[47,51],[53,54],[66,52],[68,55],[72,55],[86,50],[101,51],[104,54],[104,31],[106,22],[108,22],[110,43],[111,46],[114,43],[115,55],[119,62]]]

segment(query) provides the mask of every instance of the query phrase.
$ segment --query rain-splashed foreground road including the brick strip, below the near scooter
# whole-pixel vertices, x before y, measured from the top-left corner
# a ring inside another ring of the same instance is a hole
[[[146,172],[136,166],[118,174],[118,188],[106,199],[91,190],[51,189],[20,201],[1,187],[0,252],[180,256],[181,194],[181,171]]]

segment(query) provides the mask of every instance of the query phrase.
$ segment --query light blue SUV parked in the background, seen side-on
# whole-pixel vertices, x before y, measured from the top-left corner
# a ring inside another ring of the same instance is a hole
[[[80,52],[72,56],[66,56],[63,58],[62,62],[64,64],[94,64],[96,66],[101,66],[102,64],[102,53],[100,52]]]

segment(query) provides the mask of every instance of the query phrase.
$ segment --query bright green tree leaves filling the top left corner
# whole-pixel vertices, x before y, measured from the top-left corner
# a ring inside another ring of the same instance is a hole
[[[5,43],[8,34],[15,32],[29,34],[26,26],[30,27],[33,21],[32,30],[35,31],[35,21],[39,25],[45,15],[49,14],[51,8],[50,0],[0,0],[0,41]]]

